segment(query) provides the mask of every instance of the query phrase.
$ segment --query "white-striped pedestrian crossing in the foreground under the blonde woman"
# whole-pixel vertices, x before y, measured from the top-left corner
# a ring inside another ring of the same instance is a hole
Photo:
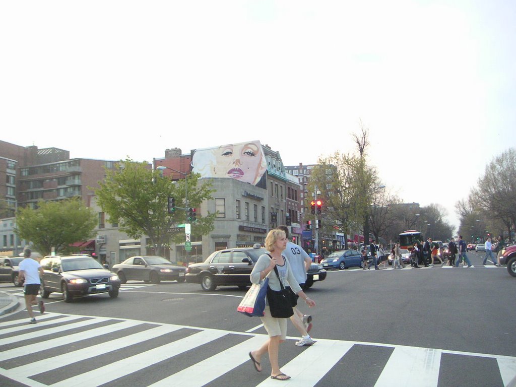
[[[0,322],[0,384],[2,376],[30,387],[497,387],[516,381],[516,357],[325,339],[296,347],[297,339],[288,337],[280,364],[292,379],[279,382],[269,378],[266,357],[262,373],[249,359],[263,334],[59,313],[37,316],[35,325],[27,320]]]

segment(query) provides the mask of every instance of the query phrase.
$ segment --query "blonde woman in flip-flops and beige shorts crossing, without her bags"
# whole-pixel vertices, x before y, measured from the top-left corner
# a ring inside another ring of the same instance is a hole
[[[282,230],[271,230],[265,238],[265,248],[270,252],[269,254],[263,254],[260,256],[256,265],[251,272],[251,282],[259,283],[265,277],[269,278],[269,288],[273,291],[280,291],[281,284],[283,287],[290,286],[294,293],[296,293],[301,299],[303,299],[310,308],[315,307],[315,301],[308,298],[308,296],[302,291],[301,287],[294,278],[294,274],[289,267],[288,261],[285,259],[281,252],[287,245],[287,238],[285,232]],[[275,267],[278,269],[278,275],[276,275]],[[269,362],[271,366],[271,379],[276,380],[287,380],[290,376],[287,376],[281,372],[278,363],[278,352],[280,343],[283,343],[287,334],[287,320],[288,318],[277,318],[270,315],[270,308],[268,302],[265,305],[265,315],[260,317],[262,319],[265,330],[269,334],[269,338],[263,345],[249,352],[254,368],[261,372],[262,365],[260,363],[262,356],[265,352],[269,353]]]

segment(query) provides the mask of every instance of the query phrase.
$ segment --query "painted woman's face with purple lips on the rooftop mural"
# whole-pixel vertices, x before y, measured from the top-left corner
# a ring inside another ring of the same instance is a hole
[[[255,142],[229,144],[215,151],[215,174],[256,184],[261,177],[262,148]],[[260,176],[259,176],[260,175]]]

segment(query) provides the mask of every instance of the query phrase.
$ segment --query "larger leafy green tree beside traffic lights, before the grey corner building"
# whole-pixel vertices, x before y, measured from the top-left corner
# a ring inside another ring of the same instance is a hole
[[[184,231],[172,232],[171,228],[186,219],[186,207],[198,208],[212,198],[211,184],[200,183],[199,174],[190,173],[184,179],[172,181],[161,171],[152,170],[146,162],[131,159],[122,161],[116,170],[106,169],[106,178],[99,188],[92,188],[97,203],[112,223],[118,223],[129,236],[139,238],[147,235],[159,255],[164,248],[184,242]],[[187,191],[188,203],[185,202]],[[168,198],[175,199],[176,208],[168,212]],[[192,233],[204,235],[213,230],[215,214],[201,217],[192,224]]]

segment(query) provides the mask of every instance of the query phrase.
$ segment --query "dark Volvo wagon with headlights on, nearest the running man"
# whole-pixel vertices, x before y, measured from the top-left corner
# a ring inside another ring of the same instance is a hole
[[[88,256],[52,256],[40,262],[43,268],[43,283],[39,292],[42,298],[51,293],[63,294],[65,302],[74,296],[109,293],[118,297],[120,279],[99,262]]]

